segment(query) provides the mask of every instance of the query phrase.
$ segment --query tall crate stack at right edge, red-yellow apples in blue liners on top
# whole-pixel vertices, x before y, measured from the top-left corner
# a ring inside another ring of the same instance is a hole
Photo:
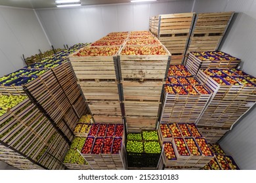
[[[228,131],[255,105],[255,78],[238,69],[202,69],[197,78],[213,92],[197,124],[205,136],[211,134],[210,142],[216,142],[221,136],[216,131]]]

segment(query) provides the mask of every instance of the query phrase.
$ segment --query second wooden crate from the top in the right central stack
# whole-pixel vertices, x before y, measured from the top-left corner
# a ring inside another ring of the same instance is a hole
[[[161,80],[123,79],[121,89],[123,101],[156,101],[160,102],[163,88]]]

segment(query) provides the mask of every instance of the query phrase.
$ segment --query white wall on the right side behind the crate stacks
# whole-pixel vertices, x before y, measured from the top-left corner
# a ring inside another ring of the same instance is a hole
[[[195,12],[235,11],[221,50],[242,59],[242,69],[256,76],[256,1],[196,0]],[[224,136],[221,146],[241,169],[256,169],[256,108]]]

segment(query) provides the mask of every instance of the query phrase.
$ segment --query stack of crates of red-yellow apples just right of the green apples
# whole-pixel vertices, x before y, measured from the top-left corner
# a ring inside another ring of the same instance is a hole
[[[214,158],[213,152],[208,150],[209,144],[195,124],[161,123],[159,133],[163,143],[161,159],[168,169],[200,169]]]

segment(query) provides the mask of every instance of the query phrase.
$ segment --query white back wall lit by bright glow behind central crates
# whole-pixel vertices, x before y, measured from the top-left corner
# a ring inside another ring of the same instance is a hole
[[[147,30],[150,16],[190,12],[193,0],[36,10],[54,47],[94,42],[113,31]]]

